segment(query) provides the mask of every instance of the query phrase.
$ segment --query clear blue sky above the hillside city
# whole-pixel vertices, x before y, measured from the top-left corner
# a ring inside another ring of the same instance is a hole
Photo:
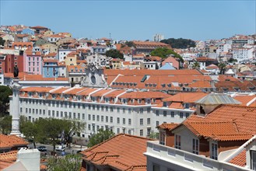
[[[256,33],[251,1],[1,1],[1,25],[46,26],[73,37],[209,40]]]

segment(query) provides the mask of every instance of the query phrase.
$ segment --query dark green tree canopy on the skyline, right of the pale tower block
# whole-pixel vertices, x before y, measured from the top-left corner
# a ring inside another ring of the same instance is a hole
[[[160,42],[165,43],[165,44],[170,44],[171,47],[177,48],[177,49],[187,49],[189,47],[195,47],[195,41],[189,40],[189,39],[164,39],[161,40]]]

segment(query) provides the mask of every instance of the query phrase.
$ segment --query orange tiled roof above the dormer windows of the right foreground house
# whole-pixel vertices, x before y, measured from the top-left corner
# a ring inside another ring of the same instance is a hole
[[[248,140],[256,134],[256,107],[220,105],[205,117],[192,114],[180,126],[217,141]]]

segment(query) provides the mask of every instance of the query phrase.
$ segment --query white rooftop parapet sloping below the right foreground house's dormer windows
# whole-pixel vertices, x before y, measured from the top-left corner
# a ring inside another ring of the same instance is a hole
[[[177,148],[160,145],[159,141],[148,141],[147,151],[147,170],[151,171],[153,163],[161,163],[161,169],[183,169],[183,170],[250,170],[236,166],[228,162],[221,162],[206,158],[204,155],[195,155]],[[166,168],[165,168],[166,167]]]

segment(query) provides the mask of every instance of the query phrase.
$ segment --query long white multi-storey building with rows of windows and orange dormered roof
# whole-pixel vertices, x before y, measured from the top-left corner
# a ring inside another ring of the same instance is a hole
[[[28,87],[20,90],[20,115],[34,121],[46,117],[86,122],[81,136],[89,138],[100,128],[115,134],[146,137],[163,123],[181,123],[194,112],[182,108],[157,107],[169,97],[163,92],[134,92],[120,89]],[[12,97],[10,99],[12,110]],[[181,116],[182,113],[182,116]]]

